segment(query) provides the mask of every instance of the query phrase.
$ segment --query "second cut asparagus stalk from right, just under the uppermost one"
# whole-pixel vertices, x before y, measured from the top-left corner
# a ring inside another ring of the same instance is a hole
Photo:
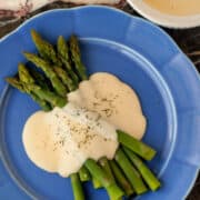
[[[129,157],[129,159],[132,161],[132,163],[136,166],[138,171],[141,173],[143,180],[147,182],[149,188],[152,191],[156,191],[160,186],[160,181],[157,179],[157,177],[151,172],[151,170],[142,162],[142,160],[137,157],[131,150],[123,147],[124,152]]]

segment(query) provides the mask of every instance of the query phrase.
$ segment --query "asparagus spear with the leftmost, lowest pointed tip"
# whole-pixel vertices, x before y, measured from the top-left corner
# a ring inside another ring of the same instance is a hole
[[[23,84],[20,83],[20,80],[18,78],[7,78],[6,80],[8,83],[10,83],[12,87],[17,88],[21,92],[28,93],[42,108],[42,110],[44,111],[51,110],[51,106],[47,101],[40,99],[37,94],[34,94],[34,92],[29,90],[27,91],[23,88]]]

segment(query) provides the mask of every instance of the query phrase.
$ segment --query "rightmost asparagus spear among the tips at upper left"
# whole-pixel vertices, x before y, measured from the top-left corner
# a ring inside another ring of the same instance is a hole
[[[79,49],[78,39],[76,36],[71,36],[69,40],[71,58],[74,63],[76,70],[81,80],[86,80],[88,77],[86,76],[86,67],[81,62],[81,54]]]

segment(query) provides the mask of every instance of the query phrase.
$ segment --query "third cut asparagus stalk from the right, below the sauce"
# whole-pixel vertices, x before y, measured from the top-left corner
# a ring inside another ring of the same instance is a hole
[[[143,183],[140,174],[131,164],[131,162],[128,160],[128,158],[126,157],[126,154],[123,153],[121,149],[118,149],[114,159],[120,166],[120,168],[123,170],[127,179],[130,181],[137,194],[147,192],[148,189],[146,184]]]

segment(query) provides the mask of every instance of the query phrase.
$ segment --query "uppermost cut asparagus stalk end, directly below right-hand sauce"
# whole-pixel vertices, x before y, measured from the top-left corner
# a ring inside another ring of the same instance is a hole
[[[118,133],[118,141],[122,143],[124,147],[129,148],[138,156],[146,160],[151,160],[156,156],[156,150],[149,147],[148,144],[143,143],[134,139],[133,137],[124,133],[121,130],[117,130]]]

